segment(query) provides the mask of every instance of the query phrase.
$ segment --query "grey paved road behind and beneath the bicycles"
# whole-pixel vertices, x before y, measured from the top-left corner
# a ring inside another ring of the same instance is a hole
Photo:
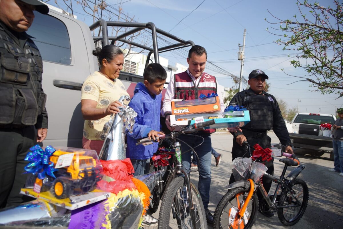
[[[271,131],[268,135],[272,138],[272,143],[278,143],[279,140]],[[213,134],[212,147],[219,153],[223,153],[223,159],[218,167],[215,167],[214,157],[212,158],[212,183],[210,193],[209,209],[214,212],[218,202],[227,192],[229,177],[231,174],[230,165],[232,162],[232,135],[231,134]],[[301,229],[339,229],[343,228],[343,177],[338,173],[329,172],[333,167],[333,161],[330,161],[329,154],[322,157],[313,157],[306,154],[304,150],[296,149],[294,151],[300,159],[300,163],[306,166],[306,169],[300,173],[299,178],[306,181],[309,187],[309,202],[305,215],[292,228]],[[277,158],[274,160],[275,176],[282,172],[284,164]],[[291,171],[291,168],[288,169]],[[191,178],[197,183],[198,174],[192,173]],[[272,186],[271,192],[275,190]],[[154,214],[158,218],[158,211]],[[258,214],[257,220],[252,229],[264,228],[289,228],[284,227],[277,215],[272,218],[264,217]],[[152,227],[146,227],[148,229]],[[209,226],[209,229],[212,227]]]

